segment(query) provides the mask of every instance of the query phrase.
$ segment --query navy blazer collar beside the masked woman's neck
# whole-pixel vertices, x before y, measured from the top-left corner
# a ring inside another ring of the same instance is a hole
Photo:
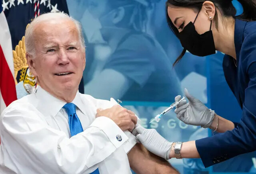
[[[244,39],[244,28],[246,25],[246,21],[236,19],[235,20],[235,32],[234,32],[234,42],[236,49],[236,62],[238,65],[240,50],[242,47],[243,39]]]

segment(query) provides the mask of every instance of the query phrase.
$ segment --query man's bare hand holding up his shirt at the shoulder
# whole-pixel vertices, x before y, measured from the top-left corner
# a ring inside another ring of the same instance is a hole
[[[104,116],[112,119],[122,131],[132,131],[137,123],[138,118],[133,111],[122,108],[120,105],[114,105],[108,109],[97,109],[96,118]]]

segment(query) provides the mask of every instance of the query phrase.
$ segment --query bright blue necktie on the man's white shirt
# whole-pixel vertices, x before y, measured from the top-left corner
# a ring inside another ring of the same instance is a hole
[[[76,105],[73,103],[67,103],[62,108],[64,108],[68,113],[68,124],[69,124],[71,137],[84,131],[81,125],[81,122],[78,116],[76,115]],[[100,174],[100,172],[97,168],[91,174]]]

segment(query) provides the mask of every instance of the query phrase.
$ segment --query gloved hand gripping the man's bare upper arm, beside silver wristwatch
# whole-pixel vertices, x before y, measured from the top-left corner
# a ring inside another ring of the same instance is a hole
[[[139,124],[135,125],[132,134],[148,151],[168,160],[172,143],[162,137],[156,129],[146,129]]]

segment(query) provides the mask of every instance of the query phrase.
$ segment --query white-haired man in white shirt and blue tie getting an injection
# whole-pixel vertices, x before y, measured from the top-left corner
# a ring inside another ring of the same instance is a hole
[[[40,86],[0,117],[1,174],[130,174],[130,167],[138,174],[177,172],[135,145],[132,111],[78,92],[85,68],[80,23],[43,14],[26,29],[25,45]]]

